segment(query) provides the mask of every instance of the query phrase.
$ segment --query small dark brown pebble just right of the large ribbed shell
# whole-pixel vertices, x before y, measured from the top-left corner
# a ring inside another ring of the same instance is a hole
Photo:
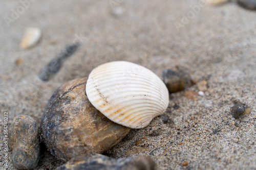
[[[184,89],[184,78],[171,69],[162,71],[163,82],[170,93],[178,92]]]

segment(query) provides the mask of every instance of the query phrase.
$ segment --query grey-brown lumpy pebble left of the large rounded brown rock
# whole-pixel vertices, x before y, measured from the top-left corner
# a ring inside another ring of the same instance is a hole
[[[19,115],[9,129],[12,163],[18,169],[33,169],[39,160],[39,128],[31,116]]]

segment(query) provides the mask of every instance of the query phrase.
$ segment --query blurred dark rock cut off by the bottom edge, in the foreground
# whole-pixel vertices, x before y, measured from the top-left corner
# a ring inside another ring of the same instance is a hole
[[[155,163],[150,157],[120,158],[114,159],[100,154],[79,155],[56,170],[154,170]]]

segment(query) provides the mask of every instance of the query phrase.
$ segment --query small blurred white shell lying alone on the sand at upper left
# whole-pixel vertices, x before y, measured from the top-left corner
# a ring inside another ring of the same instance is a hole
[[[39,28],[28,28],[20,42],[20,48],[27,49],[35,45],[40,40],[41,35],[42,32]]]

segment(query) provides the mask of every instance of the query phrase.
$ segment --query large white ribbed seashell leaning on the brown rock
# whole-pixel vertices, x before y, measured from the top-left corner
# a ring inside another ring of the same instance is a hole
[[[144,128],[162,114],[169,93],[151,70],[127,61],[113,61],[92,70],[86,84],[92,105],[113,122]]]

